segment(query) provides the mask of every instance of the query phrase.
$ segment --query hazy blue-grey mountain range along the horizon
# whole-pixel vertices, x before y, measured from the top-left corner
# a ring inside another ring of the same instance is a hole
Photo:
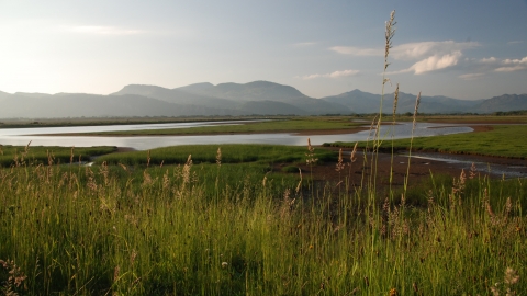
[[[414,112],[416,95],[400,92],[397,113]],[[360,90],[321,99],[290,86],[269,81],[245,84],[195,83],[167,89],[130,84],[109,95],[88,93],[24,93],[0,91],[0,118],[213,116],[213,115],[325,115],[378,113],[381,95]],[[393,94],[382,102],[393,112]],[[422,96],[421,113],[493,113],[527,110],[527,94],[504,94],[474,101]]]

